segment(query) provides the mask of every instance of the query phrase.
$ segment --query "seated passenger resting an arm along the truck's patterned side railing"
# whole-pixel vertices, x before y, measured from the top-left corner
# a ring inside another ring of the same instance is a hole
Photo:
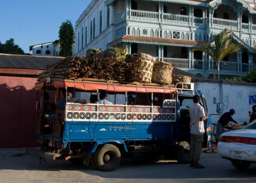
[[[67,102],[80,103],[80,104],[87,104],[86,99],[72,98],[73,95],[72,95],[72,89],[71,88],[68,88],[68,90],[67,90],[67,99],[66,99],[65,90],[62,90],[62,93],[63,93],[64,97],[63,97],[62,100],[59,100],[58,105],[57,105],[59,110],[64,110],[65,109],[66,101]]]

